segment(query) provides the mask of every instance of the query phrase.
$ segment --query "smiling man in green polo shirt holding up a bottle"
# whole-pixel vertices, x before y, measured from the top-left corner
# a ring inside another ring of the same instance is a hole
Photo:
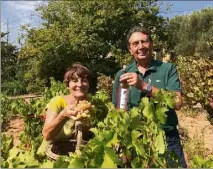
[[[127,46],[134,57],[133,63],[127,66],[125,74],[119,71],[113,85],[112,102],[116,101],[116,90],[119,81],[130,86],[128,109],[138,106],[141,98],[152,97],[160,88],[174,91],[178,96],[175,109],[182,105],[181,84],[176,67],[152,58],[153,42],[150,34],[142,27],[133,27],[127,35]],[[182,167],[187,167],[177,130],[178,119],[175,110],[167,112],[168,118],[163,128],[166,133],[168,149],[175,151]]]

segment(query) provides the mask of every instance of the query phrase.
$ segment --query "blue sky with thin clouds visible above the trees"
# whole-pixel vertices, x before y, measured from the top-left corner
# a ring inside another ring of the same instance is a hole
[[[1,32],[10,31],[8,40],[18,45],[17,37],[20,34],[20,26],[30,24],[31,27],[40,27],[41,18],[34,11],[35,7],[47,3],[47,1],[1,1]],[[175,15],[190,14],[207,6],[213,8],[213,1],[159,1],[162,3],[160,15],[172,18]],[[169,11],[165,11],[167,5],[172,5]]]

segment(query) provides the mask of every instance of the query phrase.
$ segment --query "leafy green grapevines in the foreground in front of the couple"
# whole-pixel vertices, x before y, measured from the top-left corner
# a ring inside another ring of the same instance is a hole
[[[166,113],[175,103],[176,96],[170,92],[160,90],[154,98],[143,98],[139,107],[130,111],[116,110],[105,92],[98,91],[95,95],[88,95],[88,101],[79,102],[77,108],[84,111],[91,123],[90,131],[93,136],[80,151],[61,156],[56,161],[46,156],[36,154],[41,143],[41,132],[36,135],[28,127],[29,118],[42,128],[42,110],[46,104],[43,98],[31,100],[30,105],[21,100],[13,108],[19,111],[25,120],[23,140],[29,140],[31,146],[12,145],[12,140],[2,135],[2,163],[3,168],[154,168],[172,167],[167,164],[167,158],[177,158],[168,152],[165,134],[161,127],[166,121]],[[46,95],[47,96],[47,95]],[[52,97],[52,95],[51,95]],[[46,97],[46,100],[49,100]],[[29,111],[31,110],[31,111]],[[28,112],[33,112],[29,117]],[[88,116],[91,115],[91,116]],[[84,115],[83,115],[84,116]],[[39,129],[39,130],[40,130]],[[30,132],[31,131],[31,132]],[[36,144],[37,142],[37,144]],[[24,142],[22,142],[23,144]],[[193,166],[199,166],[200,158],[193,159]],[[206,166],[211,166],[211,160]],[[179,164],[176,163],[176,167]],[[205,166],[202,162],[202,166]]]

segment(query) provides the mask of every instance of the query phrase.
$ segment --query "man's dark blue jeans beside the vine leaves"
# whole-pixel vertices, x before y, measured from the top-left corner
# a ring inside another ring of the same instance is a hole
[[[168,150],[173,151],[178,156],[178,162],[181,167],[187,168],[186,161],[184,159],[183,148],[180,143],[178,130],[174,129],[172,131],[166,132],[166,141]],[[172,159],[168,159],[167,163],[169,165],[172,165],[174,161]]]

